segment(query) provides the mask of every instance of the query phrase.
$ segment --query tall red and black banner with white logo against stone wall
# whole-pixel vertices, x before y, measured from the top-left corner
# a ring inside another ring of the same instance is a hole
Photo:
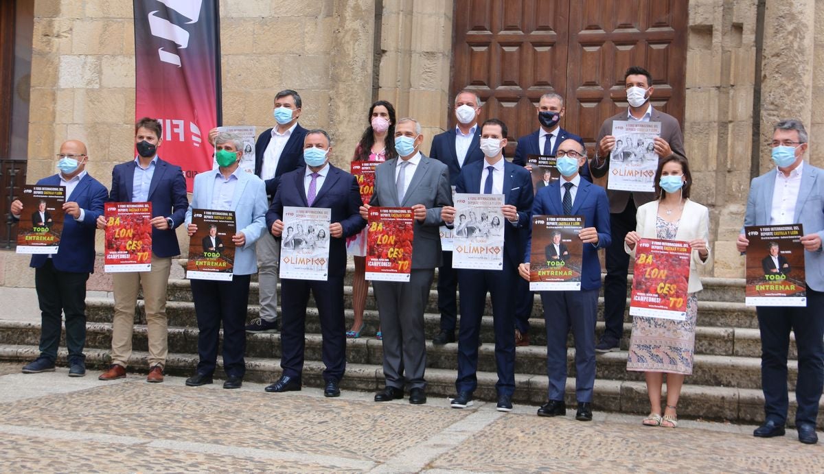
[[[134,0],[136,118],[157,118],[163,159],[186,187],[212,169],[208,131],[221,122],[218,0]]]

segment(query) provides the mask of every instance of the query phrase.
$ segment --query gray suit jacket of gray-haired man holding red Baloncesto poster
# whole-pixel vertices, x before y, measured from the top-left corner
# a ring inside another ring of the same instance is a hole
[[[395,188],[395,169],[400,158],[386,160],[375,170],[375,191],[370,206],[426,207],[424,222],[414,222],[412,240],[412,269],[428,269],[441,266],[441,207],[452,206],[452,189],[449,187],[449,169],[438,160],[421,153],[421,159],[412,175],[409,188],[402,202],[398,202]]]

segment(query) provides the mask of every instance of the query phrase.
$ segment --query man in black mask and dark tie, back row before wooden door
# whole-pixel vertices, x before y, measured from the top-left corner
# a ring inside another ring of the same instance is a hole
[[[555,94],[555,92],[541,95],[537,108],[538,123],[541,124],[541,127],[535,132],[517,139],[515,156],[513,157],[514,165],[525,166],[527,170],[531,171],[532,167],[527,163],[530,155],[555,156],[559,144],[568,138],[584,146],[581,137],[561,128],[560,121],[564,117],[565,111],[563,97]],[[581,178],[592,183],[587,163],[584,163],[578,172],[581,174]],[[547,183],[538,181],[536,188],[543,188],[545,184],[548,184],[549,179],[546,177],[544,179]],[[532,314],[532,302],[534,300],[532,292],[529,290],[529,282],[518,279],[516,292],[515,345],[529,346],[529,317]]]

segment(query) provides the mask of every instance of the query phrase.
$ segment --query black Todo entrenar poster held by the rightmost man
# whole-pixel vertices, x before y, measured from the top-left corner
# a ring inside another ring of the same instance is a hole
[[[801,224],[749,225],[747,306],[807,306]]]

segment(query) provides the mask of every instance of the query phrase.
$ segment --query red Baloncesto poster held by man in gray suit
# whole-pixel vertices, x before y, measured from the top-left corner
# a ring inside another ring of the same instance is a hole
[[[366,279],[410,281],[414,214],[410,207],[369,207]]]

